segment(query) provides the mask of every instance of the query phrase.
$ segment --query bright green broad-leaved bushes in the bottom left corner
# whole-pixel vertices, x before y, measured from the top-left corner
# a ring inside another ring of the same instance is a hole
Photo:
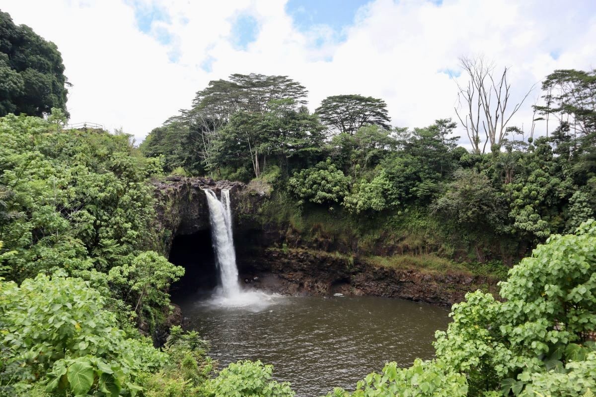
[[[173,327],[162,351],[127,337],[88,282],[39,274],[0,280],[0,395],[203,395],[212,371],[206,342]]]

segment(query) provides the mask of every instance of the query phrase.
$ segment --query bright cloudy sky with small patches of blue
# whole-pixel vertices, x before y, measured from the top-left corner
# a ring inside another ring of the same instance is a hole
[[[197,90],[231,73],[287,75],[329,95],[387,102],[392,124],[454,117],[458,57],[511,67],[520,96],[557,68],[596,67],[594,0],[2,0],[58,45],[72,123],[123,127],[140,142]],[[460,78],[463,78],[461,76]],[[527,127],[530,95],[511,125]],[[516,98],[513,98],[515,100]],[[465,133],[461,132],[465,136]]]

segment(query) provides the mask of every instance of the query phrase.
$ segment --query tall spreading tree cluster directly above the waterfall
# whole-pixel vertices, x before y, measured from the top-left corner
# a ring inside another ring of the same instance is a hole
[[[307,93],[287,76],[232,74],[214,80],[197,92],[193,108],[154,129],[141,151],[164,155],[168,171],[184,167],[191,173],[218,170],[230,179],[259,176],[268,157],[284,165],[296,151],[308,157],[313,144],[315,150],[321,145],[322,126],[303,107]]]

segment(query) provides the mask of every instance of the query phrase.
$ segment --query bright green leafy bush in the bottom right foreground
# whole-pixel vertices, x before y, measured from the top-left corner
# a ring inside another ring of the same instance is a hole
[[[437,357],[466,374],[471,395],[596,389],[596,345],[588,340],[596,330],[595,221],[539,245],[510,270],[500,295],[505,302],[468,293],[448,330],[436,333]]]

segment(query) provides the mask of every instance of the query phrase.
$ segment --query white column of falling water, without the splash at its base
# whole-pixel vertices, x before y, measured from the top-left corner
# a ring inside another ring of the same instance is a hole
[[[209,205],[209,220],[213,249],[221,275],[222,295],[225,298],[237,298],[240,295],[238,268],[232,235],[232,210],[229,201],[229,189],[221,190],[221,201],[212,190],[204,189]]]

